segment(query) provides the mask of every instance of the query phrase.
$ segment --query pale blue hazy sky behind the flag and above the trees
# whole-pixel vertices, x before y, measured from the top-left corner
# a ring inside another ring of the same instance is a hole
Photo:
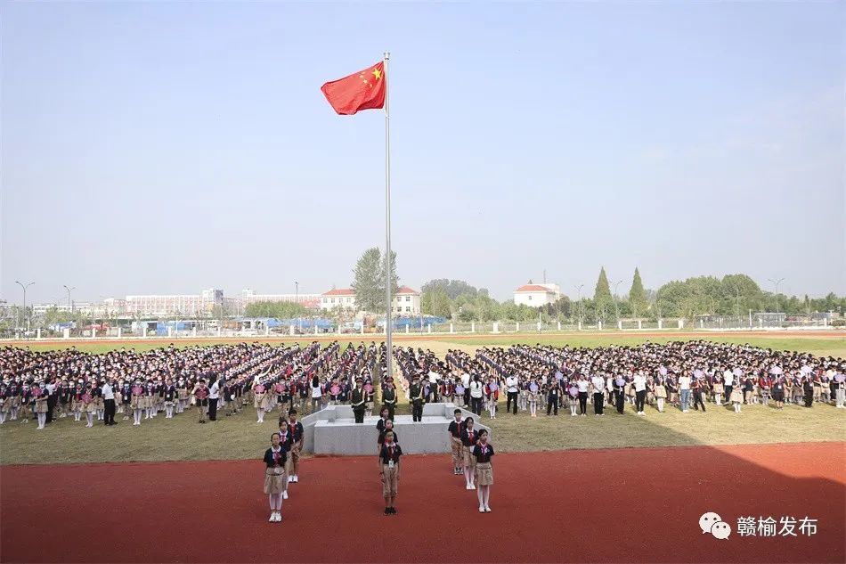
[[[346,286],[386,49],[401,282],[846,293],[844,5],[4,3],[0,297]]]

